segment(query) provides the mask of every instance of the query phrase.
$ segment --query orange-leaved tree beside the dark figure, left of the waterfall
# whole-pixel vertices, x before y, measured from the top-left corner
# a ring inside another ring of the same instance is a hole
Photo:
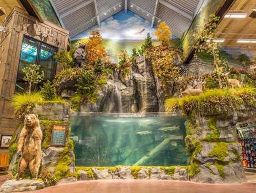
[[[106,50],[104,47],[100,46],[103,41],[102,36],[99,33],[99,30],[93,30],[89,32],[89,41],[86,45],[87,50],[87,60],[90,65],[93,65],[94,62],[99,59],[108,60]]]

